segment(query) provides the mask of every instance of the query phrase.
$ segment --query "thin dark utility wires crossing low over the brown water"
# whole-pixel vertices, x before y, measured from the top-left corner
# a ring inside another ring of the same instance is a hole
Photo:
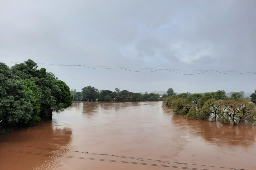
[[[165,164],[168,164],[168,165],[0,149],[0,151],[3,151],[3,152],[16,152],[16,153],[42,155],[42,156],[54,156],[54,157],[74,158],[74,159],[98,160],[98,161],[107,161],[107,162],[120,162],[120,163],[139,164],[139,165],[148,165],[148,166],[159,166],[159,167],[171,167],[171,168],[178,168],[178,169],[189,169],[189,170],[211,170],[211,169],[192,168],[192,167],[189,167],[188,165],[201,166],[201,167],[207,167],[207,168],[230,169],[230,170],[246,170],[246,169],[237,169],[237,168],[210,166],[210,165],[200,165],[200,164],[191,164],[191,163],[182,163],[182,162],[172,162],[172,161],[155,160],[155,159],[138,158],[138,157],[128,157],[128,156],[119,156],[119,155],[102,154],[102,153],[92,153],[92,152],[83,152],[83,151],[74,151],[74,150],[53,149],[53,148],[45,148],[45,147],[37,147],[37,146],[29,146],[29,145],[15,146],[15,145],[12,145],[12,144],[9,144],[9,143],[0,143],[0,145],[10,146],[10,147],[32,147],[32,148],[37,148],[37,149],[45,149],[45,150],[53,150],[53,151],[79,152],[79,153],[90,154],[90,155],[105,155],[105,156],[113,156],[113,157],[126,158],[126,159],[135,159],[135,160],[144,161],[144,162],[161,162],[161,163],[165,163]],[[176,165],[177,164],[183,164],[186,167],[173,166],[175,164]]]

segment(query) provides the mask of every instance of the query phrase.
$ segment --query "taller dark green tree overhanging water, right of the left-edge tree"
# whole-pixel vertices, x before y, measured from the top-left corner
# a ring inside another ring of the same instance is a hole
[[[60,112],[72,104],[69,87],[58,80],[53,73],[47,73],[45,68],[37,69],[37,64],[33,60],[29,59],[23,63],[15,64],[11,70],[14,75],[24,80],[27,88],[31,88],[33,93],[37,91],[33,88],[40,88],[39,116],[41,119],[51,119],[52,112]],[[29,87],[30,81],[36,87]]]

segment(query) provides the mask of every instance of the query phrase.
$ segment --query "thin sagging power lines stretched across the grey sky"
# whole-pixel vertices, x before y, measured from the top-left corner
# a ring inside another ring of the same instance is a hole
[[[6,63],[14,63],[14,64],[18,64],[15,62],[10,62],[10,61],[4,61]],[[80,67],[85,67],[85,68],[89,68],[89,69],[97,69],[97,70],[103,70],[103,69],[122,69],[122,70],[127,70],[127,71],[132,71],[132,72],[141,72],[141,73],[150,73],[150,72],[155,72],[155,71],[159,71],[159,70],[167,70],[167,71],[171,71],[177,74],[182,74],[182,75],[196,75],[196,74],[202,74],[205,72],[217,72],[217,73],[221,73],[221,74],[231,74],[231,75],[235,75],[235,74],[256,74],[256,72],[247,72],[247,71],[219,71],[219,70],[189,70],[189,69],[166,69],[166,68],[139,68],[139,67],[110,67],[110,66],[86,66],[86,65],[78,65],[78,64],[73,64],[73,65],[67,65],[67,64],[49,64],[49,63],[37,63],[37,64],[44,64],[44,65],[55,65],[55,66],[80,66]],[[95,67],[105,67],[105,68],[95,68]],[[127,68],[133,68],[133,69],[153,69],[152,71],[137,71],[137,70],[130,70]],[[180,72],[176,72],[173,70],[183,70],[183,71],[202,71],[199,73],[193,73],[193,74],[184,74],[184,73],[180,73]],[[225,72],[237,72],[237,73],[225,73]]]

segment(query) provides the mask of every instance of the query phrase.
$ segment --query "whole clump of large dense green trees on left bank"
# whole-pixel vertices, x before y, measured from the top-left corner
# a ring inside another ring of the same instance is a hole
[[[69,87],[29,59],[8,67],[0,63],[0,133],[51,119],[71,106]]]

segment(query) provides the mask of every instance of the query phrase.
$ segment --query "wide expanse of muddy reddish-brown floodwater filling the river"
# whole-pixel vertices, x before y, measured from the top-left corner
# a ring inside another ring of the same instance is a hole
[[[52,121],[0,135],[0,169],[256,169],[255,126],[186,120],[161,104],[74,102]]]

